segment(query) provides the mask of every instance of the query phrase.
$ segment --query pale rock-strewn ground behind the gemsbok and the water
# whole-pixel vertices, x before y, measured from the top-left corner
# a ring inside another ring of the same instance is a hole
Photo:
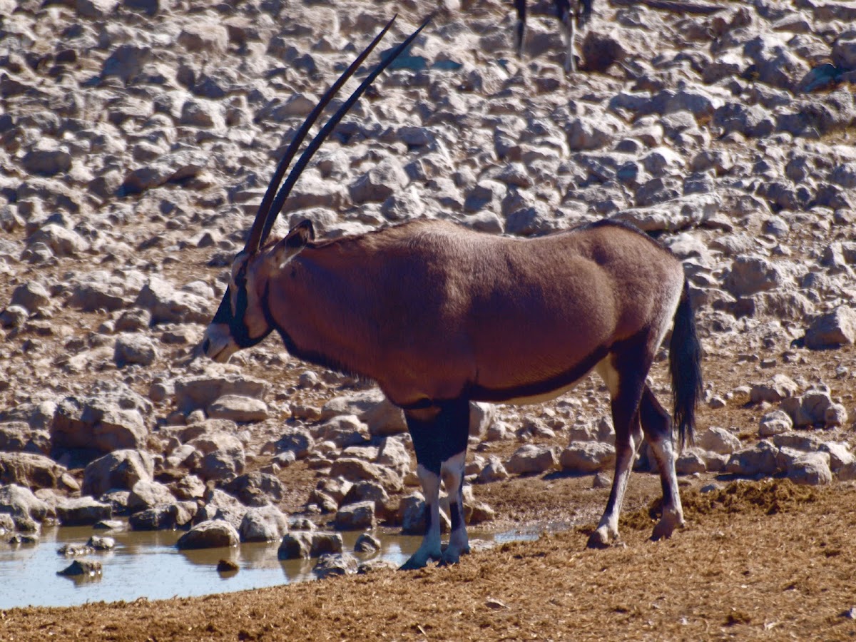
[[[440,5],[275,234],[304,217],[324,236],[635,223],[684,260],[704,344],[685,488],[856,479],[853,7],[597,3],[566,77],[551,3],[522,62],[508,3]],[[193,359],[276,158],[395,10],[382,49],[422,3],[0,0],[4,538],[128,515],[290,556],[336,550],[336,529],[419,531],[401,415],[369,383],[273,337]],[[591,379],[544,406],[473,406],[468,519],[596,519],[577,476],[609,482],[607,401]]]

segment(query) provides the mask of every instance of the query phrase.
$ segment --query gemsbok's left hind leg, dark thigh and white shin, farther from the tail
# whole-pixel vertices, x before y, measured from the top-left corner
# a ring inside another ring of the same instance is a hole
[[[615,428],[615,478],[609,501],[595,532],[588,540],[589,548],[609,546],[618,537],[618,516],[627,490],[627,480],[633,470],[636,451],[642,443],[639,425],[639,399],[645,387],[645,376],[651,360],[639,360],[639,348],[624,348],[597,364],[612,397],[612,423]]]

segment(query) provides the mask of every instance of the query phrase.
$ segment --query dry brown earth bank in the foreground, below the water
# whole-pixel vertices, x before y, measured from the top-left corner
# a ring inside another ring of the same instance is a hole
[[[550,493],[543,479],[529,481]],[[622,541],[608,550],[586,550],[588,530],[578,528],[479,550],[449,568],[11,609],[0,612],[0,638],[853,639],[854,501],[853,483],[690,488],[687,527],[663,542],[648,539],[643,508],[627,514]]]

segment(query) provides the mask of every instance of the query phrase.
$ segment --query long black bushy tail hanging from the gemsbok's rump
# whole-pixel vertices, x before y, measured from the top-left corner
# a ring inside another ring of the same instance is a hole
[[[690,306],[689,283],[684,279],[684,291],[675,311],[675,327],[669,341],[669,373],[675,399],[673,416],[678,426],[678,443],[682,449],[693,443],[695,411],[701,399],[701,343],[696,333],[693,307]]]

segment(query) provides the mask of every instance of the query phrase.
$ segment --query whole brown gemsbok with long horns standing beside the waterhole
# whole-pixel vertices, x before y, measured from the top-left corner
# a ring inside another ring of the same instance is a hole
[[[315,240],[312,223],[303,221],[282,240],[266,242],[312,152],[419,33],[391,51],[330,118],[274,199],[300,140],[389,25],[324,94],[277,166],[202,352],[225,361],[276,330],[290,354],[373,379],[401,407],[425,491],[425,537],[402,568],[457,562],[469,550],[462,503],[469,402],[549,400],[594,370],[611,396],[616,461],[609,502],[589,545],[606,546],[618,536],[643,434],[663,484],[653,538],[669,537],[684,521],[673,426],[645,377],[670,326],[681,443],[692,438],[701,371],[687,280],[668,250],[638,229],[608,221],[518,239],[419,220],[326,241]],[[452,524],[445,550],[441,480]]]

